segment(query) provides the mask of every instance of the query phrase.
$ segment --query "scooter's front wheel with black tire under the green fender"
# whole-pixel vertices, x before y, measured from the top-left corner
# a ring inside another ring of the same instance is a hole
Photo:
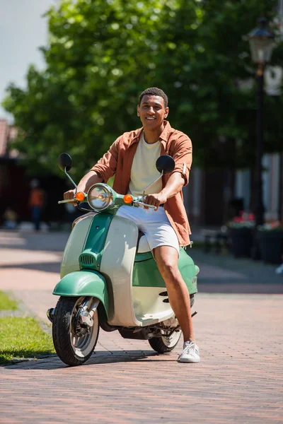
[[[76,336],[72,329],[75,314],[84,298],[59,298],[54,312],[52,336],[55,351],[67,365],[82,365],[90,358],[99,334],[98,311],[93,314],[93,326],[89,334]],[[76,343],[76,346],[75,344]]]

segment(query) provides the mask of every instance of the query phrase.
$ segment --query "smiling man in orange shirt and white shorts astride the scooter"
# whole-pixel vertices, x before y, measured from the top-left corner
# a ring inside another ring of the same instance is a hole
[[[146,192],[145,203],[152,208],[122,206],[117,215],[133,220],[145,233],[158,269],[166,283],[168,298],[183,331],[183,353],[179,362],[198,363],[200,353],[195,343],[190,311],[190,295],[178,269],[180,245],[190,244],[190,226],[183,205],[182,188],[188,182],[192,163],[192,143],[181,131],[171,128],[168,98],[159,88],[141,93],[137,116],[142,128],[122,134],[103,158],[86,174],[78,191],[87,192],[97,182],[107,182],[115,175],[113,189],[120,194],[143,194],[144,188],[159,176],[155,163],[160,155],[171,155],[175,169],[164,175]],[[74,199],[74,190],[64,193]]]

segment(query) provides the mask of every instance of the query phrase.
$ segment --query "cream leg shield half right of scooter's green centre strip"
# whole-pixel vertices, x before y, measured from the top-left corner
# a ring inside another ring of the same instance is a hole
[[[141,326],[134,314],[132,269],[137,249],[138,228],[131,220],[114,216],[105,241],[100,271],[112,281],[114,314],[108,324]]]

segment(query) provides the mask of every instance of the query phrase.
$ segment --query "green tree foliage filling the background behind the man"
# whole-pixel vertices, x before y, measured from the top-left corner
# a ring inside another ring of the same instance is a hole
[[[168,93],[170,121],[192,139],[204,167],[255,158],[256,93],[248,42],[277,0],[64,0],[47,12],[47,66],[28,70],[28,87],[8,88],[4,106],[21,128],[17,148],[30,170],[57,172],[67,151],[81,176],[124,131],[139,127],[137,100],[149,86]],[[282,45],[275,52],[283,61]],[[265,151],[278,151],[282,97],[265,96]],[[219,137],[226,139],[221,145]],[[235,139],[240,146],[235,150]]]

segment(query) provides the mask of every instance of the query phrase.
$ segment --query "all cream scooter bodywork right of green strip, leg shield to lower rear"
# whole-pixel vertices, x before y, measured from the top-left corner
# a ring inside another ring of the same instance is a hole
[[[100,271],[112,282],[114,311],[109,311],[108,324],[113,326],[148,326],[174,315],[170,304],[159,295],[164,289],[132,287],[138,233],[132,220],[120,216],[112,219],[108,230]],[[142,236],[139,252],[149,250],[146,237]]]

